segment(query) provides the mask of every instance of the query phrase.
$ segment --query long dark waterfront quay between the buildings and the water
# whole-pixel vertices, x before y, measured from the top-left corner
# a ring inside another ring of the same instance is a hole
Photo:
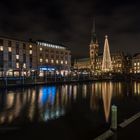
[[[5,76],[0,77],[0,88],[12,87],[12,86],[30,86],[39,84],[63,84],[74,82],[93,82],[93,81],[131,81],[139,80],[139,75],[125,75],[114,73],[102,73],[100,75],[93,75],[91,72],[70,72],[67,75],[61,74],[47,74],[39,76],[37,74],[31,76]]]

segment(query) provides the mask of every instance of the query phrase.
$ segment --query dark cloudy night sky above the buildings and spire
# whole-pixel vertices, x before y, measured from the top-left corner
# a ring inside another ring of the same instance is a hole
[[[0,0],[0,35],[61,43],[73,58],[86,57],[93,18],[103,50],[140,52],[139,0]]]

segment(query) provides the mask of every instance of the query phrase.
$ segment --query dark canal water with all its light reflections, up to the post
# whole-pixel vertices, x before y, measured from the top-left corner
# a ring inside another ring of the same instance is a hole
[[[140,111],[140,83],[95,82],[0,90],[0,136],[90,140]]]

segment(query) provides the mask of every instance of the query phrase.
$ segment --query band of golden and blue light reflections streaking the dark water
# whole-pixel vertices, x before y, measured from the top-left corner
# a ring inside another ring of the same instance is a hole
[[[91,112],[103,112],[108,122],[111,100],[123,99],[125,93],[127,96],[129,93],[140,95],[140,83],[97,82],[4,91],[0,94],[0,124],[56,119],[72,111],[75,103],[78,103],[79,109],[84,109],[85,105]]]

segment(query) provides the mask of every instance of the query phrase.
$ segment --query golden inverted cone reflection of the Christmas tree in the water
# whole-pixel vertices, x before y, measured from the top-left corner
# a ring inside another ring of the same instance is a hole
[[[102,90],[103,90],[102,98],[103,98],[105,119],[106,122],[108,122],[109,114],[110,114],[111,98],[112,98],[112,83],[103,83]]]

